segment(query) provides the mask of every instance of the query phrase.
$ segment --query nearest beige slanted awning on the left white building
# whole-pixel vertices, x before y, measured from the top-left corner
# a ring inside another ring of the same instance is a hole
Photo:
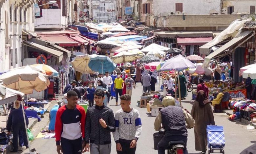
[[[61,62],[61,60],[63,58],[63,53],[60,52],[60,51],[57,51],[57,50],[54,50],[52,48],[48,48],[48,47],[45,47],[45,46],[41,46],[39,44],[36,44],[34,42],[30,42],[30,41],[24,41],[23,43],[24,43],[24,45],[26,45],[28,47],[32,47],[32,48],[35,48],[35,49],[38,49],[38,50],[41,50],[41,51],[44,51],[48,54],[53,55],[54,57],[56,57],[58,59],[58,62]]]

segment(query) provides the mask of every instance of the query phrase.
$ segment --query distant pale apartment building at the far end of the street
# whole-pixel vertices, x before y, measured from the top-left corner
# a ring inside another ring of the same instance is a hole
[[[112,23],[116,22],[115,0],[92,1],[90,8],[92,9],[93,21],[96,23]]]

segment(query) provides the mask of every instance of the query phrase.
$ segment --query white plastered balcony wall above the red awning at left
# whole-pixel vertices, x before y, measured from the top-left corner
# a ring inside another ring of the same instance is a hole
[[[67,17],[61,9],[42,9],[42,17],[35,18],[35,29],[63,29],[67,27]]]

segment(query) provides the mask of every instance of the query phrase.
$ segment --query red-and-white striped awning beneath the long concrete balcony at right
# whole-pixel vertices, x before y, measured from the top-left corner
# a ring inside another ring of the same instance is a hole
[[[212,37],[177,37],[177,44],[186,45],[204,45],[212,40]]]

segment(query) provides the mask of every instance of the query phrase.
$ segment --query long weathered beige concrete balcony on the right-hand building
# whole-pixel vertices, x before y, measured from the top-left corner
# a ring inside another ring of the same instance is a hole
[[[226,29],[231,22],[240,19],[240,14],[216,15],[168,15],[155,17],[157,27],[166,27],[173,31],[220,31]]]

